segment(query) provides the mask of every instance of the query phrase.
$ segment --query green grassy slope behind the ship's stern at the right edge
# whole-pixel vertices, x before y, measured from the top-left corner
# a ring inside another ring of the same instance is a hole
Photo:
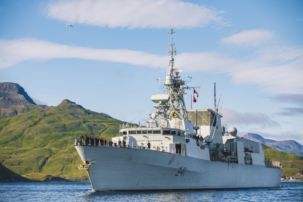
[[[264,156],[271,161],[280,161],[283,167],[282,176],[294,176],[301,178],[303,174],[303,157],[295,154],[285,153],[276,149],[264,147]]]

